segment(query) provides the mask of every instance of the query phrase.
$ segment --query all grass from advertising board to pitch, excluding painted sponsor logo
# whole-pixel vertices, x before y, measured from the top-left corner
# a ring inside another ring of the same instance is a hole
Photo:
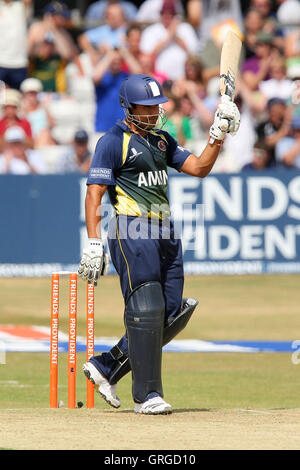
[[[300,339],[300,276],[186,277],[185,296],[200,305],[179,338]],[[67,281],[61,287],[60,327],[68,329]],[[49,326],[49,279],[1,279],[0,324]],[[79,282],[78,332],[85,334],[85,285]],[[96,336],[123,334],[123,300],[116,277],[96,288]],[[67,403],[66,354],[59,367],[59,399]],[[77,400],[85,403],[84,354],[78,356]],[[290,354],[164,353],[165,397],[177,410],[300,408],[300,365]],[[119,384],[132,409],[130,376]],[[48,354],[8,353],[0,365],[0,408],[49,406]],[[96,408],[108,406],[96,397]],[[0,443],[1,444],[1,443]]]

